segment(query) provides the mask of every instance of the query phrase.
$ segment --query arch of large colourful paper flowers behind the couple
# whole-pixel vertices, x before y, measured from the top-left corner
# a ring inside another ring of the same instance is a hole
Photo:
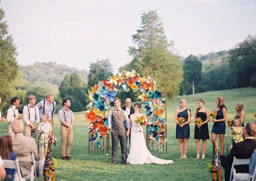
[[[110,102],[114,101],[117,93],[121,91],[133,92],[140,91],[138,97],[143,102],[148,119],[148,138],[155,141],[155,145],[160,144],[166,139],[165,117],[163,108],[165,99],[161,92],[156,90],[155,81],[149,76],[140,76],[135,70],[122,71],[115,76],[109,76],[91,87],[89,94],[90,109],[86,112],[86,121],[89,122],[89,141],[96,141],[97,138],[107,137],[108,128],[108,108]]]

